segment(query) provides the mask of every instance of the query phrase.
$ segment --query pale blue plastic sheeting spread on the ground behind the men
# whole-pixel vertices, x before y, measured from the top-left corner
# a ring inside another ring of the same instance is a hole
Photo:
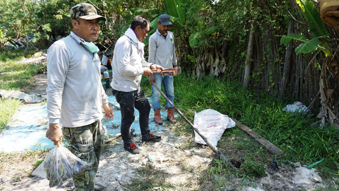
[[[150,98],[148,98],[149,101]],[[110,104],[119,105],[115,101],[114,96],[109,96]],[[113,108],[114,109],[114,108]],[[166,123],[167,112],[161,111],[162,119]],[[178,116],[177,114],[175,116]],[[150,130],[161,131],[163,125],[156,126],[153,121],[154,111],[150,112]],[[3,129],[0,134],[0,151],[3,152],[22,152],[25,149],[36,150],[40,148],[53,148],[53,142],[46,138],[47,130],[47,108],[46,105],[38,105],[33,107],[22,107],[16,112],[12,118],[12,122],[8,127]],[[113,121],[102,120],[109,134],[120,132],[121,112],[114,110]],[[134,134],[140,134],[139,127],[139,112],[135,109],[135,121],[132,123],[132,128],[135,129]]]

